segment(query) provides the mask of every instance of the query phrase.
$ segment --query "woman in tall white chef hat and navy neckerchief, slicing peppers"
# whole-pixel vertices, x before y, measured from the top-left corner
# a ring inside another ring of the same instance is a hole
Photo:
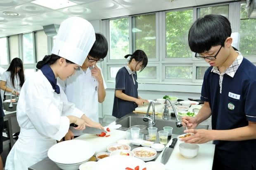
[[[95,42],[92,25],[80,17],[64,20],[59,28],[52,54],[37,63],[40,69],[21,88],[17,104],[20,135],[9,152],[6,170],[27,170],[47,158],[47,151],[68,132],[70,123],[83,130],[85,126],[103,127],[92,122],[56,84],[74,75]],[[67,151],[68,152],[68,151]]]

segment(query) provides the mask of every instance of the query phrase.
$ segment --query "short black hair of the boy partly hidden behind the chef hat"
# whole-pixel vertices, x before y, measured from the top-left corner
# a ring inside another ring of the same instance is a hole
[[[100,33],[95,33],[95,37],[96,40],[88,55],[97,59],[105,58],[108,51],[107,39]]]

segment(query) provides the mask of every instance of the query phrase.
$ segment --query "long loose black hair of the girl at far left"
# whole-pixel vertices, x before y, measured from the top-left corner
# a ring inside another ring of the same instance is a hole
[[[19,70],[19,86],[22,87],[24,82],[25,82],[25,78],[24,78],[24,69],[23,69],[23,63],[22,60],[20,58],[13,58],[9,68],[6,71],[11,72],[11,81],[12,81],[12,85],[14,86],[14,77],[15,75],[17,75],[17,67],[20,67],[21,69]]]

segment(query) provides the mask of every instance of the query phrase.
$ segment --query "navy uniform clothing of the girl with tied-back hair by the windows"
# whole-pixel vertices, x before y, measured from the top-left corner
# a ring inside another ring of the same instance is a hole
[[[122,90],[126,95],[138,98],[137,73],[130,70],[129,66],[119,69],[116,74],[116,90]],[[114,95],[112,116],[121,118],[133,112],[138,105],[135,102],[122,100]]]

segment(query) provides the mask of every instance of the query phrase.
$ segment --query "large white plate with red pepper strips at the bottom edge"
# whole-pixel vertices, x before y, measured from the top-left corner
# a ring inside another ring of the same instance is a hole
[[[136,166],[142,170],[146,168],[146,163],[133,156],[114,155],[98,161],[92,170],[125,170],[127,167],[134,169]]]

